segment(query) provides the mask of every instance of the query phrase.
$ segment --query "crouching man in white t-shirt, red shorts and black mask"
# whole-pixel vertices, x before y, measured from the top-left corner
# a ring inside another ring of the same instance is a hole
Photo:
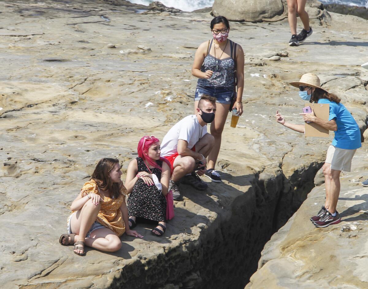
[[[216,98],[203,94],[196,114],[188,115],[176,123],[164,136],[161,156],[170,161],[173,174],[169,183],[174,200],[180,198],[179,180],[195,189],[208,187],[199,177],[206,172],[206,157],[212,149],[214,138],[207,133],[207,123],[215,119]],[[199,169],[197,174],[195,170]]]

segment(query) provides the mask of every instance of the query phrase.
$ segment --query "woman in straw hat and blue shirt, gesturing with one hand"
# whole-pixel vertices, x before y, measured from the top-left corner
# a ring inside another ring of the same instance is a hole
[[[327,150],[323,175],[326,185],[326,202],[317,215],[311,217],[316,227],[327,227],[340,223],[341,218],[336,211],[337,200],[340,194],[340,173],[350,171],[351,159],[355,151],[361,147],[360,130],[353,116],[340,102],[335,94],[321,88],[318,76],[313,73],[303,74],[300,81],[291,82],[294,87],[299,87],[299,96],[309,102],[329,104],[329,120],[323,120],[312,113],[300,114],[303,121],[314,122],[328,130],[335,131],[335,137]],[[304,133],[304,125],[298,125],[285,121],[285,118],[276,112],[276,121],[296,132]]]

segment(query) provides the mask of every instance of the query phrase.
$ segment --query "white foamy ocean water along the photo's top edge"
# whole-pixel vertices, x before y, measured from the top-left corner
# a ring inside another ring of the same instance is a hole
[[[132,3],[149,5],[154,0],[129,0]],[[212,7],[215,0],[159,0],[167,7],[174,7],[183,11],[194,11],[204,7]],[[244,0],[246,3],[247,0]],[[321,0],[320,0],[321,1]],[[323,4],[343,4],[348,6],[362,6],[368,8],[368,0],[322,0]]]

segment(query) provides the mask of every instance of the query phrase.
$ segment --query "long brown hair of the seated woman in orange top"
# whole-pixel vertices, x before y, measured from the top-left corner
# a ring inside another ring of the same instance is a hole
[[[118,163],[118,159],[110,159],[108,157],[101,159],[91,177],[91,180],[94,180],[100,189],[104,191],[109,190],[110,196],[112,194],[114,199],[120,196],[120,189],[118,183],[112,182],[109,173]]]

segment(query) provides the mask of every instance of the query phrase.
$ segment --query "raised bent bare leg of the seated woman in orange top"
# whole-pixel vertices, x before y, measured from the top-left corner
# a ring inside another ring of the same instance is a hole
[[[95,222],[98,212],[101,207],[101,202],[98,205],[92,203],[91,200],[87,201],[82,209],[78,210],[76,214],[71,217],[70,227],[74,234],[75,241],[85,241],[85,236],[92,224]],[[78,245],[82,247],[82,245]],[[82,250],[74,250],[76,253],[82,253]]]

